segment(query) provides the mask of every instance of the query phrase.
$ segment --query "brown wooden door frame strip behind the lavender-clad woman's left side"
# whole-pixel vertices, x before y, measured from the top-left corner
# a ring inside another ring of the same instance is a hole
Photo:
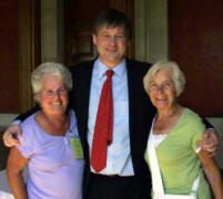
[[[31,72],[40,63],[40,0],[18,1],[19,112],[34,106]]]

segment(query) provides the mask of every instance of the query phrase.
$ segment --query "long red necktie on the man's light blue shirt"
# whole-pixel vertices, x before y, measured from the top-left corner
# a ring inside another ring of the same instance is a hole
[[[107,147],[112,144],[113,128],[113,100],[112,100],[113,71],[107,71],[97,122],[94,127],[93,144],[91,150],[91,166],[95,172],[100,172],[107,166]]]

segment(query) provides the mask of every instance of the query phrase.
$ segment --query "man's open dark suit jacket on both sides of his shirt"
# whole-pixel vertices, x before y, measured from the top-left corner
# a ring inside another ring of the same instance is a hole
[[[70,93],[70,105],[74,108],[77,115],[79,134],[87,160],[83,198],[90,181],[90,157],[87,133],[93,63],[94,61],[91,61],[71,67],[73,90]],[[126,59],[131,157],[134,174],[142,180],[142,187],[150,195],[151,179],[148,165],[144,160],[144,150],[155,109],[143,87],[143,76],[149,67],[150,64],[148,63]]]

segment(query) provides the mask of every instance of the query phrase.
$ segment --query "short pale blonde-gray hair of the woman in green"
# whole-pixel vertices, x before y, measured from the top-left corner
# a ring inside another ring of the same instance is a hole
[[[150,67],[150,70],[148,71],[148,73],[145,74],[143,78],[143,85],[144,85],[145,92],[149,93],[150,81],[155,76],[155,74],[160,70],[170,71],[171,77],[175,86],[176,96],[180,96],[184,90],[185,77],[183,72],[180,70],[178,63],[173,61],[160,61]]]

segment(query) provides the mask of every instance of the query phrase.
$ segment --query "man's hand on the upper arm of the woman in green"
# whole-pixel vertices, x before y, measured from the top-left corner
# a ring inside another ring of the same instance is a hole
[[[220,145],[216,133],[213,129],[206,129],[204,132],[203,140],[197,143],[202,150],[206,150],[210,157],[215,156],[216,149]]]

